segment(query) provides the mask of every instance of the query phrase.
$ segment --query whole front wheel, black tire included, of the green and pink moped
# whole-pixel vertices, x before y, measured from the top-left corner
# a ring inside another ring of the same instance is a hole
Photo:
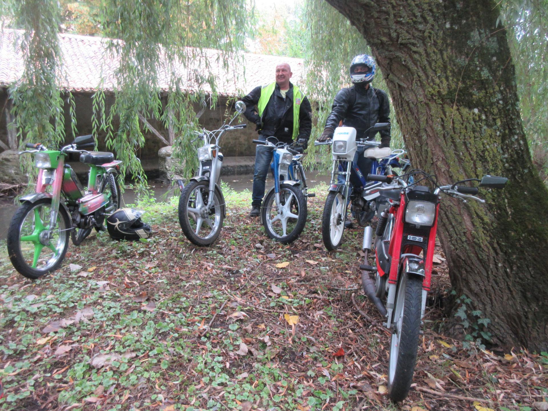
[[[9,259],[12,261],[15,270],[27,278],[36,279],[57,270],[65,258],[68,248],[68,229],[70,229],[71,223],[70,216],[62,206],[59,207],[53,241],[50,240],[49,242],[57,250],[56,253],[50,247],[39,243],[37,237],[35,241],[30,239],[21,241],[23,237],[37,236],[45,230],[45,227],[43,230],[36,227],[34,221],[38,216],[40,224],[47,226],[51,208],[52,201],[49,198],[40,199],[35,203],[24,203],[15,211],[10,222],[7,239]],[[43,222],[45,224],[42,224]],[[22,247],[22,244],[30,245]],[[32,252],[30,253],[31,247]],[[44,261],[44,259],[47,260]]]

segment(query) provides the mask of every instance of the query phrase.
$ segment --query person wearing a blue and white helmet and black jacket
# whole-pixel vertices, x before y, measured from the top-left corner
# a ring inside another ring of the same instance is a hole
[[[367,54],[357,55],[350,64],[350,79],[354,84],[352,87],[341,89],[335,96],[331,113],[327,117],[323,133],[318,141],[326,141],[333,137],[335,128],[342,121],[345,127],[356,129],[356,139],[373,140],[375,131],[367,130],[375,123],[390,123],[390,104],[388,96],[383,90],[373,88],[369,83],[375,77],[375,60]],[[366,134],[367,132],[367,134]],[[390,146],[390,130],[380,132],[380,148]],[[368,170],[371,160],[363,157],[363,152],[372,146],[358,147],[354,161],[362,170]],[[344,178],[339,176],[339,182]],[[352,187],[352,175],[351,175]],[[351,189],[350,187],[350,189]],[[345,222],[351,226],[350,221]]]

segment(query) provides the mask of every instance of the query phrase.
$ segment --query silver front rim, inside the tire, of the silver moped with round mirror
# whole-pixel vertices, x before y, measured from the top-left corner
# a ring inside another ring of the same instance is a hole
[[[197,186],[191,191],[187,203],[186,218],[195,235],[209,239],[215,235],[221,224],[221,205],[213,194],[213,207],[208,207],[209,187]]]

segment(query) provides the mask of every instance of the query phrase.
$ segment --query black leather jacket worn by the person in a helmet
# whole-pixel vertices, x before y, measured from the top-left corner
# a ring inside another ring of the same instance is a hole
[[[343,125],[356,129],[356,138],[367,138],[373,140],[375,134],[370,130],[365,135],[369,127],[375,123],[390,123],[390,102],[388,96],[383,90],[369,87],[352,86],[344,88],[337,93],[333,101],[333,107],[329,117],[327,117],[326,127],[335,129],[339,127],[339,122],[343,120]],[[390,130],[380,132],[381,147],[390,146]]]

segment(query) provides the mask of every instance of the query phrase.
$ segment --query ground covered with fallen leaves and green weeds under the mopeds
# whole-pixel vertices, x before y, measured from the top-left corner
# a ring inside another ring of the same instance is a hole
[[[524,410],[548,396],[548,355],[500,353],[439,334],[449,292],[441,249],[409,397],[386,393],[389,332],[358,285],[361,229],[328,253],[325,189],[284,246],[227,193],[209,248],[182,235],[177,198],[139,204],[155,235],[70,246],[30,281],[0,254],[0,409]],[[548,405],[548,404],[547,404]],[[534,407],[534,408],[533,408]]]

